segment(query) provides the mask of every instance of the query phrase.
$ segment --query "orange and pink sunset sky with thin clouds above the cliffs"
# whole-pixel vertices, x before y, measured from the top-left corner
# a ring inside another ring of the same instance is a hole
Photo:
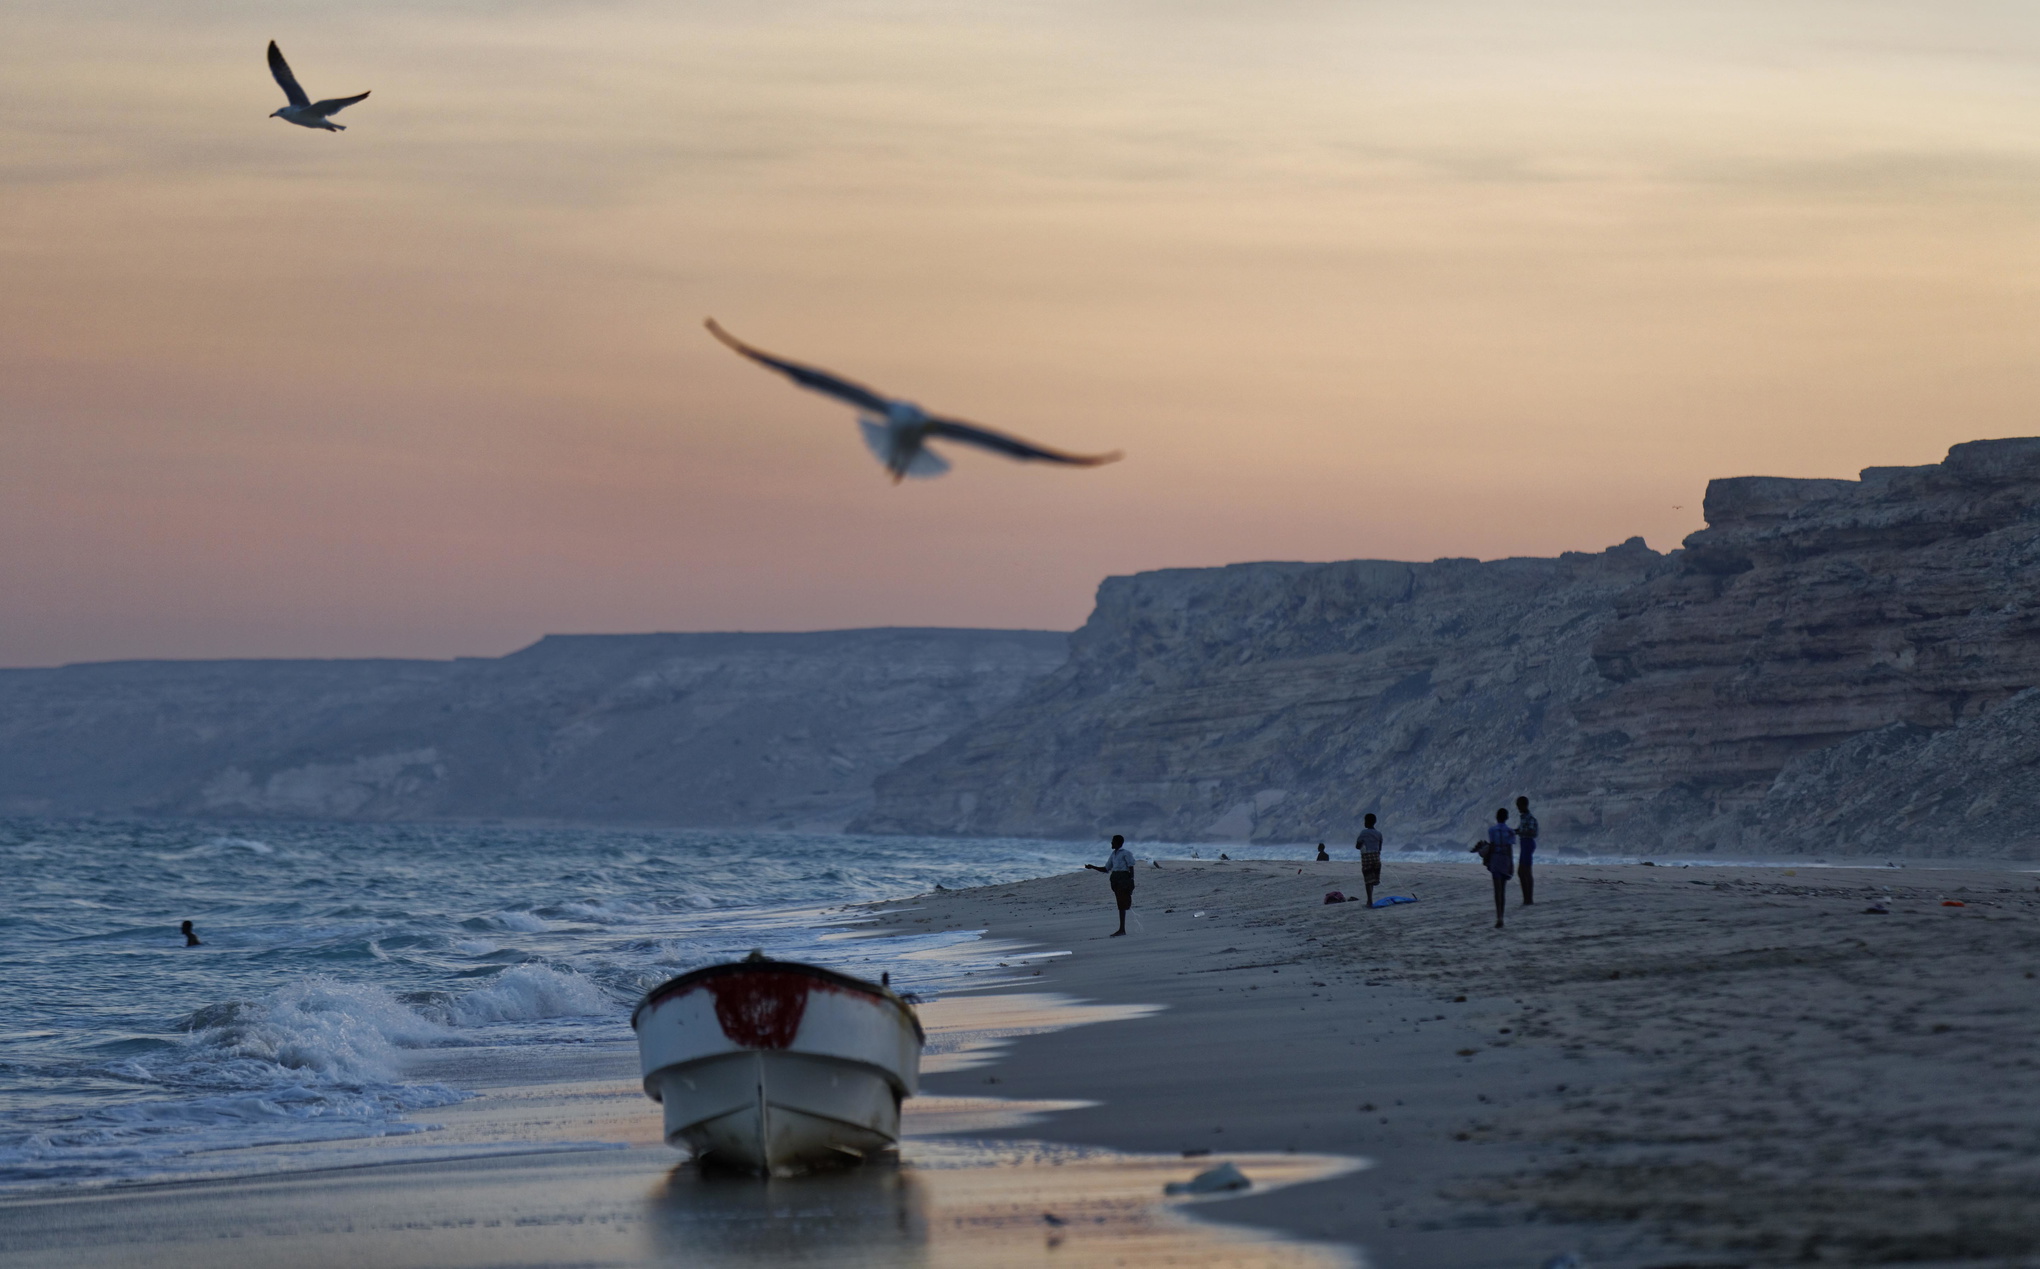
[[[2030,2],[10,0],[0,82],[0,665],[1073,628],[2040,435]],[[894,486],[706,316],[1126,459]]]

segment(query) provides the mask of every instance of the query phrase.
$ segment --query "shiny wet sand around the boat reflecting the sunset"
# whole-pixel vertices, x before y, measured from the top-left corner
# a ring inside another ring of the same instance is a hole
[[[1018,973],[1008,987],[1024,985]],[[924,1071],[967,1077],[1016,1036],[1149,1012],[1038,989],[961,994],[922,1010]],[[759,1181],[704,1175],[663,1145],[628,1040],[592,1049],[571,1073],[490,1049],[426,1051],[418,1067],[483,1096],[432,1112],[439,1126],[424,1136],[328,1143],[316,1155],[231,1151],[214,1165],[243,1175],[4,1200],[0,1265],[1357,1265],[1342,1247],[1191,1218],[1234,1202],[1226,1196],[1163,1198],[1206,1159],[1028,1138],[1028,1126],[1081,1100],[914,1098],[898,1159]],[[1236,1161],[1261,1189],[1365,1165],[1289,1153]]]

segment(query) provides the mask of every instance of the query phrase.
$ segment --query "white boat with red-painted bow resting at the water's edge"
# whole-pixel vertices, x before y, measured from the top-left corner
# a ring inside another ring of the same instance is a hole
[[[891,1147],[900,1102],[920,1083],[914,1006],[883,983],[761,953],[653,987],[630,1026],[667,1143],[757,1173]]]

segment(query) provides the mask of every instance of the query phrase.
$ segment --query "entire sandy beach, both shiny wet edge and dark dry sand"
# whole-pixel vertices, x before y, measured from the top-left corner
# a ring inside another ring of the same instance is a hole
[[[1546,865],[1493,930],[1477,865],[1142,867],[851,910],[985,930],[928,1006],[900,1165],[718,1183],[657,1143],[626,1038],[488,1053],[445,1159],[0,1204],[6,1265],[2030,1263],[2040,879]],[[1867,914],[1887,898],[1889,914]],[[1944,906],[1948,902],[1960,906]],[[1059,955],[1067,953],[1067,955]],[[1089,1004],[1073,1004],[1089,1002]],[[1157,1008],[1159,1006],[1159,1008]],[[490,1071],[496,1071],[494,1081]],[[1230,1159],[1257,1189],[1161,1185]],[[1049,1222],[1055,1216],[1061,1224]]]

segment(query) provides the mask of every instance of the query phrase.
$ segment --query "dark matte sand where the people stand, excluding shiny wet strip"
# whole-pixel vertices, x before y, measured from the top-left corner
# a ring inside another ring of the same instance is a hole
[[[1167,1006],[932,1089],[1100,1102],[1036,1138],[1369,1157],[1224,1218],[1383,1267],[2040,1263],[2030,871],[1546,863],[1508,930],[1471,857],[1389,857],[1383,894],[1422,902],[1381,910],[1322,904],[1344,861],[1138,879],[1126,938],[1098,873],[883,908]]]

